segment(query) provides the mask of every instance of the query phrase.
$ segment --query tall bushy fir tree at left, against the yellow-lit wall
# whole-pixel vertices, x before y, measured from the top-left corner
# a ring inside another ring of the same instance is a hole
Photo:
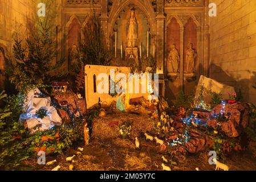
[[[9,65],[8,76],[22,93],[50,83],[50,72],[57,67],[51,65],[56,56],[54,26],[51,23],[54,13],[50,1],[47,5],[49,13],[46,17],[37,17],[36,26],[30,27],[25,43],[18,35],[14,38],[15,60]]]

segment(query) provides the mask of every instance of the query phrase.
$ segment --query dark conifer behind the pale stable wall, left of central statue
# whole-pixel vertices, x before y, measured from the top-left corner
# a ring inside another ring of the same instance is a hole
[[[112,56],[105,44],[99,18],[91,16],[84,29],[84,39],[80,44],[80,60],[84,65],[109,65]]]

